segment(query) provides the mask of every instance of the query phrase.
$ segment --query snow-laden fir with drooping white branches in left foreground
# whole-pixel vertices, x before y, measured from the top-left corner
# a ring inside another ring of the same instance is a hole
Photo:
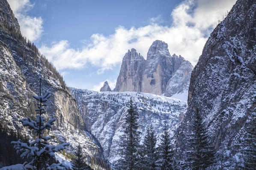
[[[56,118],[52,118],[45,123],[45,117],[43,115],[46,114],[46,110],[44,107],[47,106],[46,102],[51,95],[49,92],[46,92],[45,95],[41,94],[41,83],[42,79],[40,78],[39,95],[33,95],[33,98],[37,100],[36,120],[33,121],[30,118],[19,120],[24,127],[34,130],[37,138],[35,141],[31,141],[29,145],[23,143],[21,139],[12,141],[17,153],[21,154],[21,158],[27,158],[31,161],[24,162],[24,164],[3,167],[0,170],[68,170],[69,168],[64,163],[49,164],[50,159],[55,159],[54,153],[64,150],[69,143],[63,143],[57,146],[50,145],[48,141],[51,137],[44,135],[45,130],[51,130]]]

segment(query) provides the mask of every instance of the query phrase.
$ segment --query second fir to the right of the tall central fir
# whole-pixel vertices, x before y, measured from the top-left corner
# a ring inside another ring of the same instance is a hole
[[[174,150],[171,144],[170,133],[167,123],[164,124],[163,133],[161,134],[160,144],[158,146],[158,169],[159,170],[174,170],[175,161],[173,161]]]

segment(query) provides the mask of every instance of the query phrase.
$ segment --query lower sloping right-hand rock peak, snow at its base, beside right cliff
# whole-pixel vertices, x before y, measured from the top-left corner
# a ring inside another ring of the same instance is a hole
[[[179,69],[167,83],[165,96],[188,100],[188,87],[193,66],[189,61],[183,61]],[[182,96],[181,96],[182,95]]]

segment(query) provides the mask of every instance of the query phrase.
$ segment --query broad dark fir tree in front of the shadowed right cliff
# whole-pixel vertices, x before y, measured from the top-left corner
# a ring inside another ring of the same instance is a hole
[[[187,134],[187,147],[185,150],[186,170],[205,170],[214,164],[214,148],[209,143],[208,130],[196,110],[193,119],[190,119],[191,133]]]

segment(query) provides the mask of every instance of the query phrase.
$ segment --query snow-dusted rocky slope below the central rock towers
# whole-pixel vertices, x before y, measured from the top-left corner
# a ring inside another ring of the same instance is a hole
[[[104,156],[115,164],[119,159],[118,150],[123,132],[126,104],[132,98],[139,113],[139,130],[142,136],[146,126],[152,124],[155,133],[161,133],[164,121],[170,129],[175,129],[179,115],[187,107],[186,101],[142,92],[95,92],[86,89],[70,88],[86,129],[101,143]]]

